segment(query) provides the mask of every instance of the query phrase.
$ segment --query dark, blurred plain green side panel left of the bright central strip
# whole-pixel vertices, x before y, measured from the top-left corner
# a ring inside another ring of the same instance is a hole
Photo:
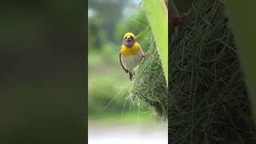
[[[0,10],[0,143],[85,143],[85,1]]]

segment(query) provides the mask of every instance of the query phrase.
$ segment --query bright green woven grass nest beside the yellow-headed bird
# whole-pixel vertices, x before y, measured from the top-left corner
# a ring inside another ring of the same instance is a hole
[[[168,115],[166,78],[154,38],[150,36],[150,47],[146,58],[135,71],[128,98],[139,107],[153,109],[162,119]]]

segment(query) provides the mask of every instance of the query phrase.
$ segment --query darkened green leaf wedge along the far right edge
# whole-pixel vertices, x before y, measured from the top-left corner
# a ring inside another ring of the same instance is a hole
[[[227,2],[231,26],[234,29],[238,45],[238,54],[242,69],[244,70],[247,91],[250,94],[250,102],[256,118],[256,17],[254,12],[254,1],[230,1]]]

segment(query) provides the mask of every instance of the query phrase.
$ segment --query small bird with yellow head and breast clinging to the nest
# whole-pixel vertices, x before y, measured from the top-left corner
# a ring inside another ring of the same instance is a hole
[[[129,74],[130,80],[134,77],[134,71],[145,58],[142,47],[135,41],[132,33],[126,33],[123,36],[122,46],[119,51],[119,61],[122,69]]]

